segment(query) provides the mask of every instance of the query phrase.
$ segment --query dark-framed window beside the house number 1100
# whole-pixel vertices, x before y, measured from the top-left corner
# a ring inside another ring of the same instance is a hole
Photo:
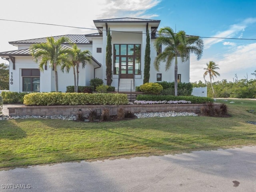
[[[40,91],[40,71],[39,69],[22,69],[22,91],[39,92]]]

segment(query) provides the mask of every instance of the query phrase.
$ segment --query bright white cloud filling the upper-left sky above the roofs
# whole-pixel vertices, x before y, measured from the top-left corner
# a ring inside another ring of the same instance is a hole
[[[93,20],[136,17],[152,18],[157,15],[147,11],[161,0],[8,0],[1,2],[3,7],[0,19],[20,20],[95,28]],[[10,8],[10,9],[8,9]],[[11,10],[11,11],[10,11]],[[62,34],[86,34],[96,30],[47,26],[0,20],[0,52],[15,50],[9,41],[56,36]],[[0,58],[0,63],[6,62]]]

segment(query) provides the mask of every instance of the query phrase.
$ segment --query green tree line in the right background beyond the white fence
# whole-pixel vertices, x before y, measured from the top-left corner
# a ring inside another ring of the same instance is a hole
[[[206,87],[207,96],[216,98],[255,98],[256,96],[256,80],[241,79],[236,82],[228,82],[221,80],[203,83],[202,81],[192,83],[193,87]],[[214,89],[214,93],[212,91]]]

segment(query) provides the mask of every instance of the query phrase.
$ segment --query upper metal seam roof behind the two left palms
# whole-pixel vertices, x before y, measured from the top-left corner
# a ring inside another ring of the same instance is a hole
[[[99,33],[95,34],[87,34],[87,35],[60,35],[60,36],[53,36],[54,40],[58,40],[62,37],[67,37],[70,40],[70,43],[75,44],[92,44],[86,36],[100,36]],[[36,38],[36,39],[28,39],[28,40],[18,40],[18,41],[11,41],[9,44],[36,44],[36,43],[46,43],[46,37],[44,38]],[[66,44],[69,44],[68,42]]]

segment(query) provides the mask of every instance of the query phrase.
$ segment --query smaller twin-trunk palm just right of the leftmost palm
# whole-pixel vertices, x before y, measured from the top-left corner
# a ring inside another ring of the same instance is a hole
[[[69,72],[70,68],[73,68],[74,73],[74,91],[78,92],[78,81],[79,81],[79,65],[82,63],[82,68],[85,67],[86,63],[91,63],[92,55],[90,51],[84,50],[81,51],[76,44],[72,46],[71,53],[70,53],[70,60],[65,62],[61,66],[61,70]]]

